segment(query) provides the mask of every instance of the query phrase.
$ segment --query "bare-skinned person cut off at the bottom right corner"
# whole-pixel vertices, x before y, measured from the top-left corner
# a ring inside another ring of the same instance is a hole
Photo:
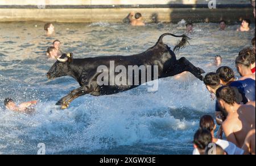
[[[245,155],[255,155],[255,130],[251,130],[247,134],[242,149],[245,151]]]

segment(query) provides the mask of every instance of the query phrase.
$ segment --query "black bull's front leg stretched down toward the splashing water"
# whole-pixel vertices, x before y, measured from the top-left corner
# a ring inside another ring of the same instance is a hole
[[[89,94],[90,92],[92,92],[92,90],[89,89],[88,86],[81,86],[80,88],[72,90],[67,96],[61,98],[56,105],[61,106],[61,109],[67,109],[74,99]]]

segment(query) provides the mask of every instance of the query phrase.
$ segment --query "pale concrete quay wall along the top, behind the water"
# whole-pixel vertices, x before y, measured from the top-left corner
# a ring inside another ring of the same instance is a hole
[[[157,16],[160,22],[179,22],[181,19],[193,22],[218,22],[226,19],[234,22],[241,18],[255,21],[249,0],[217,0],[220,5],[217,9],[208,9],[208,2],[209,0],[0,0],[0,22],[122,22],[131,11],[142,13],[146,22],[152,22],[152,15]],[[203,6],[191,6],[195,4]],[[104,7],[106,5],[109,6]],[[117,5],[122,6],[116,7]],[[158,7],[152,8],[150,5]],[[236,6],[228,7],[229,5]]]

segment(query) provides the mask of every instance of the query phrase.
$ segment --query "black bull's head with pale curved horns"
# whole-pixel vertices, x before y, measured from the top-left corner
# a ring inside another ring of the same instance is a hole
[[[72,62],[72,59],[72,53],[63,54],[60,58],[57,58],[56,63],[49,69],[47,78],[52,80],[54,78],[67,76],[69,72],[69,64]]]

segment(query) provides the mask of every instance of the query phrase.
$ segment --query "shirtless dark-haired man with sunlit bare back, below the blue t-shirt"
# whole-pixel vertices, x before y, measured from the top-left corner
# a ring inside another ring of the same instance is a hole
[[[218,89],[216,96],[223,114],[226,115],[226,120],[222,123],[226,138],[242,148],[249,131],[255,130],[255,107],[238,104],[236,93],[229,86]]]

